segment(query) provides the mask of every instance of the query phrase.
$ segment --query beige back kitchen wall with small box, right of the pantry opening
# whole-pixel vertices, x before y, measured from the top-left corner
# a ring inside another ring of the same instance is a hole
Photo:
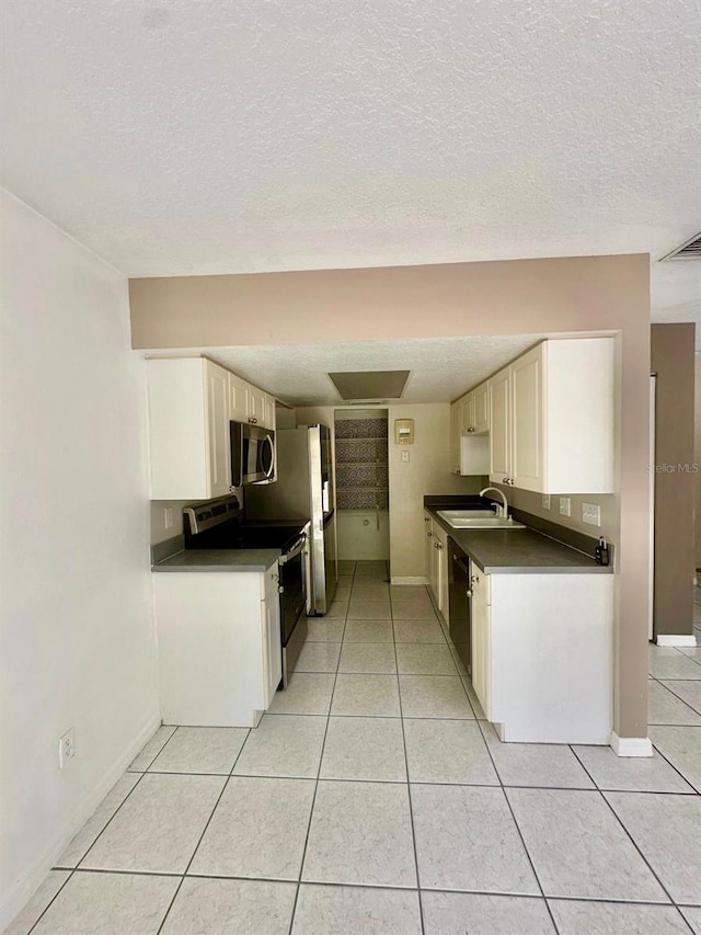
[[[425,578],[424,494],[479,493],[484,477],[450,474],[450,406],[390,406],[390,573]],[[394,444],[394,420],[414,420],[414,444]],[[409,463],[401,460],[409,451]]]

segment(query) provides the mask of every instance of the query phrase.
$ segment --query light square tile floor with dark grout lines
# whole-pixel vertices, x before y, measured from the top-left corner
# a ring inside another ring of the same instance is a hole
[[[8,935],[699,935],[699,652],[651,647],[651,760],[503,744],[386,571],[256,730],[162,727]]]

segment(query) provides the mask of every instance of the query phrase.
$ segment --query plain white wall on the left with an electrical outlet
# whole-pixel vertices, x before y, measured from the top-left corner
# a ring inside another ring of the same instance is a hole
[[[127,281],[1,201],[0,927],[160,720]]]

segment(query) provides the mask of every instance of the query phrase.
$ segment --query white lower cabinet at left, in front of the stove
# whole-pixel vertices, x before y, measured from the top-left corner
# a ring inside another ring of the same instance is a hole
[[[152,581],[163,721],[255,727],[283,674],[277,562]]]

